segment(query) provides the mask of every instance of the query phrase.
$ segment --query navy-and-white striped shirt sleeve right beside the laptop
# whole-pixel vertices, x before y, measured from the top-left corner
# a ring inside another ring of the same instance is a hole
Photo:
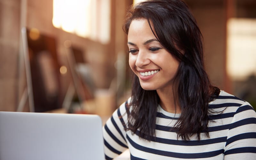
[[[126,102],[127,103],[127,102]],[[105,159],[113,159],[123,153],[128,147],[126,132],[124,130],[125,118],[127,119],[125,104],[123,103],[103,126]]]

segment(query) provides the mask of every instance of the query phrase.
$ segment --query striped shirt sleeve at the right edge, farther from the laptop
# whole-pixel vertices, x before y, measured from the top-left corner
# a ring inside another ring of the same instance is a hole
[[[224,159],[255,159],[256,112],[248,102],[237,110],[229,126]]]

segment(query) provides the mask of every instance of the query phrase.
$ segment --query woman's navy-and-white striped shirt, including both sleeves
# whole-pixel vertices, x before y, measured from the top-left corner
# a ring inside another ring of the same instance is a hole
[[[129,103],[128,99],[125,103]],[[113,159],[129,148],[131,159],[256,159],[256,113],[252,106],[237,97],[221,91],[209,103],[215,114],[209,115],[209,137],[201,133],[190,140],[177,139],[172,127],[180,114],[166,112],[158,105],[156,139],[139,138],[138,133],[125,131],[127,123],[125,103],[108,119],[103,127],[106,159]],[[223,111],[221,113],[217,113]]]

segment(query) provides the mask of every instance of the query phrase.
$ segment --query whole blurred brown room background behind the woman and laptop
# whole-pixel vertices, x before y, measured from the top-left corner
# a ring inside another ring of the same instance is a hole
[[[185,0],[212,84],[256,106],[256,1]],[[0,111],[108,117],[130,96],[133,0],[0,0]]]

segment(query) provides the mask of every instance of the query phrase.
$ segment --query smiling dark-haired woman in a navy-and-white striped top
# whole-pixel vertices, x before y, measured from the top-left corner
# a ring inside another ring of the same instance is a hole
[[[106,159],[255,159],[256,113],[210,84],[201,32],[180,0],[131,7],[132,95],[103,127]]]

